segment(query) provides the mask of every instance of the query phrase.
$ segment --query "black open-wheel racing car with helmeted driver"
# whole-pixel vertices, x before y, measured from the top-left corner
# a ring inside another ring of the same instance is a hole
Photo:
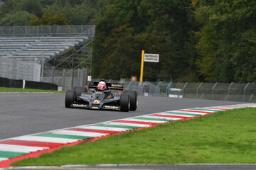
[[[136,111],[138,106],[137,91],[124,91],[124,84],[90,81],[86,87],[76,86],[66,91],[66,108],[89,108],[95,110],[111,109],[117,111]],[[112,90],[119,93],[112,93]],[[120,94],[120,95],[119,95]]]

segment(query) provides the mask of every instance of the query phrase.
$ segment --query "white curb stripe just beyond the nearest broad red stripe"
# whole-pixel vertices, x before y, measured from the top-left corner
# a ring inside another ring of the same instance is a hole
[[[14,137],[13,140],[25,140],[25,141],[34,141],[34,142],[53,142],[53,143],[60,143],[60,144],[67,144],[67,143],[78,141],[78,140],[64,139],[64,138],[58,138],[58,137],[40,137],[40,136]]]

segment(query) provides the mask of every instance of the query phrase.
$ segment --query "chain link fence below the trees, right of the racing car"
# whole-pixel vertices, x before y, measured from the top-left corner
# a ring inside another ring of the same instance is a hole
[[[100,79],[93,79],[100,81]],[[139,96],[173,98],[198,98],[216,101],[240,101],[256,103],[256,83],[174,83],[152,81],[106,80],[123,83],[126,89],[135,90]]]

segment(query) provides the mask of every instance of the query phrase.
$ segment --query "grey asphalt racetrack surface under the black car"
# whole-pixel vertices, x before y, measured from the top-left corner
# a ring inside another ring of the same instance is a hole
[[[224,106],[239,103],[139,96],[137,111],[126,113],[65,108],[64,100],[65,94],[0,93],[0,140],[181,108]]]

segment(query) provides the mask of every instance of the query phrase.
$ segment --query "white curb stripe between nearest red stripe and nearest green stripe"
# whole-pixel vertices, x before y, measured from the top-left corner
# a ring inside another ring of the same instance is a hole
[[[20,146],[20,145],[6,145],[6,144],[0,144],[0,150],[1,151],[9,151],[9,152],[35,152],[38,150],[43,149],[49,149],[48,147],[26,147],[26,146]]]

